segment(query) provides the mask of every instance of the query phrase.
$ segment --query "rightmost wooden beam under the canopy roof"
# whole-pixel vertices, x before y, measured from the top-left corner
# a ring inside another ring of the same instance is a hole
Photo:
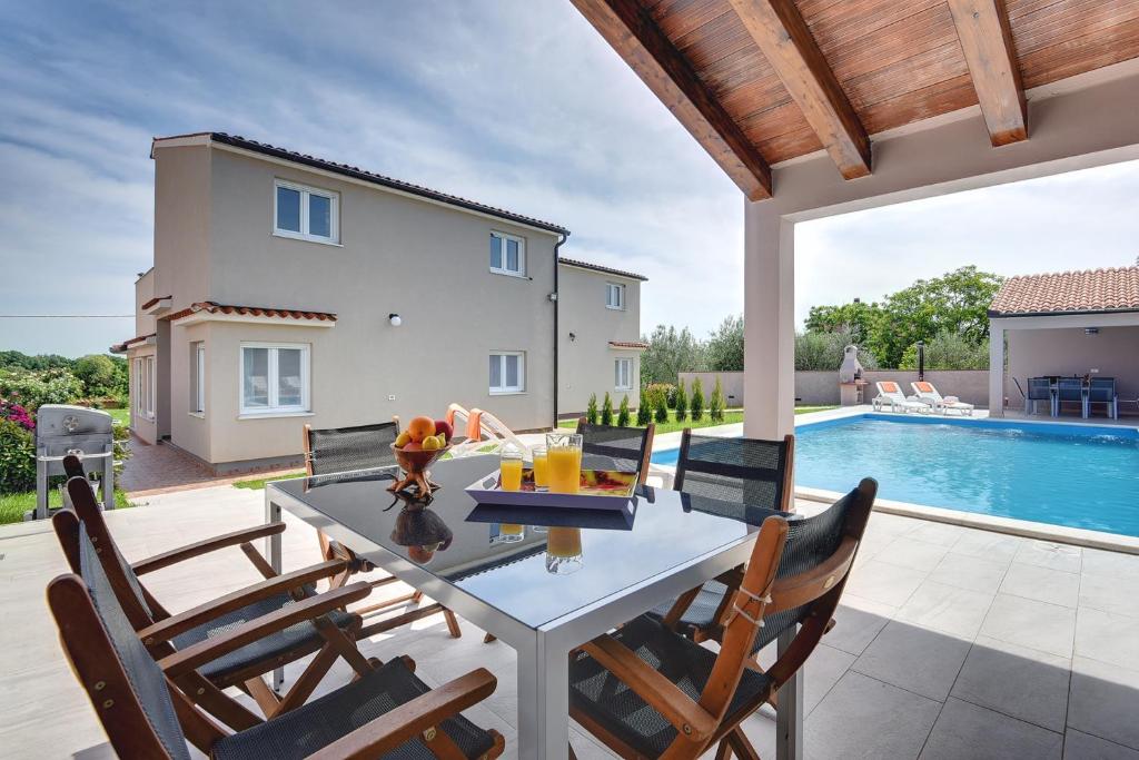
[[[994,147],[1029,139],[1029,108],[1003,0],[949,0]]]

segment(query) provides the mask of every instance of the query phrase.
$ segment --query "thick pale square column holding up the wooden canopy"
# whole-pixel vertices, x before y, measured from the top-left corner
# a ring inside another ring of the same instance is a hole
[[[744,434],[795,431],[795,226],[775,204],[744,216]]]

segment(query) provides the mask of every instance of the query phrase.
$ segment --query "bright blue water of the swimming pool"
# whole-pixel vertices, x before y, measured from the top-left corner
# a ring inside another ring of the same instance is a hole
[[[885,499],[1139,536],[1134,428],[863,415],[795,435],[798,485],[847,491],[869,475]]]

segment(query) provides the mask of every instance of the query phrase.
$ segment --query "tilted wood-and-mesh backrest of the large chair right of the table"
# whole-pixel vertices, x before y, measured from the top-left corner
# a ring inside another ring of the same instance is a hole
[[[838,606],[877,492],[877,482],[868,477],[818,515],[763,522],[700,696],[705,710],[723,716],[755,652],[761,620],[777,630],[802,623],[795,643],[767,671],[773,690],[806,662]],[[727,692],[718,686],[724,683],[731,685]]]

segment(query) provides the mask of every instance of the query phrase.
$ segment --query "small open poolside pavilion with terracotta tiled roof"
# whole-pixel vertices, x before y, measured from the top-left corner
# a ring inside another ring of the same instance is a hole
[[[989,319],[991,415],[1027,410],[1029,379],[1039,377],[1112,378],[1120,414],[1139,414],[1139,265],[1010,277]],[[1050,402],[1036,406],[1052,411]],[[1088,414],[1108,408],[1092,403]]]

